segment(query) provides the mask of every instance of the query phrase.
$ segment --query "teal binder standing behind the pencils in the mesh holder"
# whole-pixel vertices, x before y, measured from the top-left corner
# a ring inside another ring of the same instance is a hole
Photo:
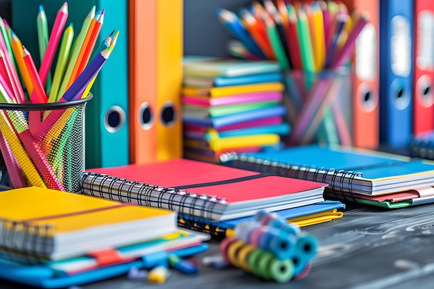
[[[40,4],[49,24],[64,0],[11,1],[11,28],[32,55],[39,55],[36,17]],[[128,1],[68,1],[67,25],[73,23],[74,41],[92,6],[105,9],[105,17],[95,49],[112,30],[119,30],[110,59],[101,69],[91,92],[94,98],[85,111],[85,167],[123,166],[128,164]],[[26,9],[23,9],[26,7]],[[60,46],[60,45],[59,45]],[[37,67],[39,57],[35,58]],[[57,53],[54,61],[57,60]],[[52,69],[55,68],[53,64]],[[52,70],[52,73],[54,71]]]

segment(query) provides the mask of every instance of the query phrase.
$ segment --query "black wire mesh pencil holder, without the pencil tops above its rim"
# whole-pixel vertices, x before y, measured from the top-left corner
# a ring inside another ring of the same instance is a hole
[[[62,103],[0,103],[5,186],[80,191],[85,170],[87,98]]]

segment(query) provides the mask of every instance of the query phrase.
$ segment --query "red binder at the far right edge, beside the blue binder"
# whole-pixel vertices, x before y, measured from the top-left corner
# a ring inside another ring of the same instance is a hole
[[[413,133],[434,129],[434,2],[415,1]]]

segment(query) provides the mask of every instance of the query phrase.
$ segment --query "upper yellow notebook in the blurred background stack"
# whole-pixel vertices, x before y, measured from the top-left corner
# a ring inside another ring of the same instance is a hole
[[[283,91],[284,85],[281,82],[267,82],[254,85],[233,85],[229,87],[211,87],[211,88],[198,88],[198,87],[184,87],[182,88],[182,95],[184,96],[231,96],[233,94],[247,94],[249,92],[260,91]]]

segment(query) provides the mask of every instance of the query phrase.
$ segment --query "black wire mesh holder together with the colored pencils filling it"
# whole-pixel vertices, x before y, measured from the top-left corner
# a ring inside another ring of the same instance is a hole
[[[73,192],[79,189],[78,180],[84,170],[81,117],[84,106],[65,103],[53,107],[48,103],[87,98],[109,58],[119,32],[110,33],[94,49],[104,20],[104,10],[95,11],[94,6],[73,43],[73,25],[65,28],[67,2],[58,10],[50,34],[40,6],[39,70],[28,49],[7,22],[0,19],[0,103],[17,105],[11,108],[0,104],[0,150],[7,169],[3,175],[8,175],[14,188],[40,186]],[[58,60],[51,78],[56,52]],[[39,105],[44,103],[47,105]]]

